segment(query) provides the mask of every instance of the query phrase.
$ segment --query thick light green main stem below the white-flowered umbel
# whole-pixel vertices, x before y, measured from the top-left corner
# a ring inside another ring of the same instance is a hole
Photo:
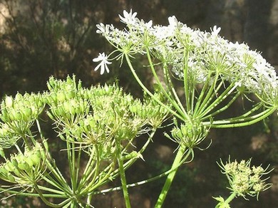
[[[170,186],[175,178],[175,174],[177,173],[177,169],[180,166],[180,161],[182,160],[182,157],[184,156],[185,153],[185,146],[181,145],[179,147],[179,149],[177,150],[177,155],[175,156],[175,160],[173,162],[173,165],[171,167],[171,170],[173,170],[173,172],[170,172],[170,174],[168,175],[165,184],[163,186],[162,191],[160,192],[160,195],[158,197],[158,201],[155,204],[155,208],[160,208],[163,206],[163,203],[166,199],[166,196],[168,194],[168,191],[170,189]],[[185,156],[185,158],[187,158],[190,155],[190,151],[187,152],[187,155]]]

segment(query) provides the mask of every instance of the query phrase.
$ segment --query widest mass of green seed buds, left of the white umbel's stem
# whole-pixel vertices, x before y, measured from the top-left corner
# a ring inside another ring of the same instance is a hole
[[[148,125],[158,128],[168,115],[168,110],[152,99],[134,99],[117,85],[83,88],[80,81],[76,84],[74,76],[68,76],[66,80],[51,77],[48,89],[47,114],[60,134],[66,133],[67,140],[90,147],[91,154],[98,152],[105,158],[114,154],[115,140],[131,142],[148,132]],[[159,94],[155,96],[162,99]]]

